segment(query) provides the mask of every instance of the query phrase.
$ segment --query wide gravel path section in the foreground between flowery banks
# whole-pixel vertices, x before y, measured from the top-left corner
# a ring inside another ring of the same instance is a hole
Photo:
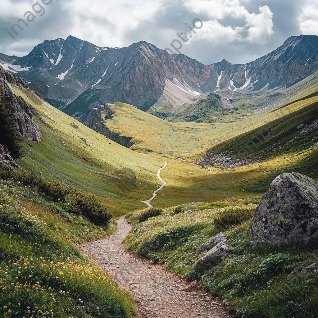
[[[136,300],[137,318],[230,318],[218,299],[205,294],[200,287],[189,292],[178,275],[168,272],[162,265],[151,264],[149,259],[135,256],[125,250],[123,239],[131,230],[125,218],[118,220],[118,231],[109,238],[81,245],[90,259],[117,280]]]

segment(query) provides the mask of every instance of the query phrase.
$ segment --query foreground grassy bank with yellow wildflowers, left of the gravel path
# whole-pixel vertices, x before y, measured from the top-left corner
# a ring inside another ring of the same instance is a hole
[[[102,238],[111,228],[101,232],[19,183],[0,182],[0,207],[2,317],[135,315],[132,296],[72,243]]]

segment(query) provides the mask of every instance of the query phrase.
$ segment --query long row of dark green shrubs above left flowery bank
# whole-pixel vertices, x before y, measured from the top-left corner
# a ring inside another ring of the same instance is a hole
[[[112,218],[107,207],[93,195],[86,195],[82,190],[74,187],[66,187],[58,182],[47,182],[34,173],[8,171],[3,168],[0,169],[0,178],[36,187],[53,201],[67,203],[67,212],[83,214],[95,225],[107,226]]]

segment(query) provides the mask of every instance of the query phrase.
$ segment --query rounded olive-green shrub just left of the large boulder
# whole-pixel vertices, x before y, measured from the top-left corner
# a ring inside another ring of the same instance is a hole
[[[220,210],[213,218],[215,226],[226,230],[232,226],[242,224],[255,215],[255,208],[250,206],[235,206]]]

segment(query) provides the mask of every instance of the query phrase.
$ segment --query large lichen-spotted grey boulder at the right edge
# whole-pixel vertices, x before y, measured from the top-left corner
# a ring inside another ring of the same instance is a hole
[[[299,173],[276,177],[248,228],[252,245],[312,245],[318,238],[318,182]]]

